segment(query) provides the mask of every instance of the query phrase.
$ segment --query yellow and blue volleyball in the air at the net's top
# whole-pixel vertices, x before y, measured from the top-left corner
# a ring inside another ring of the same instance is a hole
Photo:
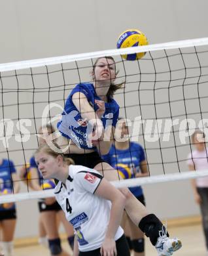
[[[139,30],[126,30],[118,37],[116,47],[126,48],[126,47],[136,47],[141,45],[148,45],[146,35]],[[145,56],[145,53],[133,53],[133,54],[124,54],[122,58],[125,60],[138,60]]]

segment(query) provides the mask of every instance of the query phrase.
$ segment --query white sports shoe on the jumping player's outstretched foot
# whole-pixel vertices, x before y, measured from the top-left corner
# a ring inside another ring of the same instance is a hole
[[[181,240],[178,238],[168,238],[166,232],[166,228],[165,232],[164,230],[159,232],[160,236],[157,244],[155,245],[158,256],[170,256],[174,253],[174,251],[177,251],[182,246]]]

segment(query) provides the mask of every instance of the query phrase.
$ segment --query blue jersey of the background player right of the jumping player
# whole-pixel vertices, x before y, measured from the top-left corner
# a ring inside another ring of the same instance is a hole
[[[134,172],[141,172],[140,164],[145,159],[143,147],[135,142],[130,142],[130,148],[126,150],[118,150],[112,145],[109,153],[103,156],[103,160],[107,161],[113,167],[118,163],[128,165],[131,169],[131,179],[135,178]],[[130,191],[134,196],[141,196],[143,194],[141,186],[134,186],[130,188]]]

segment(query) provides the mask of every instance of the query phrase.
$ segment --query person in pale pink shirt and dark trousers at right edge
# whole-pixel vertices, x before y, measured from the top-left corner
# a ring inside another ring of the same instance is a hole
[[[190,171],[207,170],[208,150],[205,146],[205,134],[202,131],[196,130],[191,139],[196,149],[188,155],[188,169],[190,169]],[[208,255],[208,177],[192,179],[191,182],[194,191],[194,199],[201,209],[203,232]]]

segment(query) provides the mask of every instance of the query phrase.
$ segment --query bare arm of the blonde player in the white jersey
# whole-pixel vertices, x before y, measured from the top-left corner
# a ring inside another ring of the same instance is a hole
[[[110,220],[105,233],[105,240],[101,245],[101,255],[117,255],[114,236],[122,220],[126,198],[118,189],[104,178],[97,187],[95,195],[111,201]]]

